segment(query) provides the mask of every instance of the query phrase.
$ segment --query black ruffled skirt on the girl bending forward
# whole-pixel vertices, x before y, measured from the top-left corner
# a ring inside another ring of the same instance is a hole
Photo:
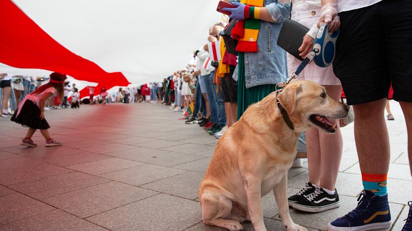
[[[34,129],[44,130],[50,128],[47,120],[40,118],[40,109],[33,101],[26,100],[20,107],[22,107],[20,114],[16,116],[18,111],[16,110],[10,119],[11,121]]]

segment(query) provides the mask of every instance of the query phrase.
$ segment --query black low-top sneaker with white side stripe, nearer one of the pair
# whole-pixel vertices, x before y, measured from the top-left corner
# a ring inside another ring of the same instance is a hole
[[[293,203],[292,207],[310,213],[318,213],[337,208],[339,207],[338,191],[335,190],[335,194],[331,195],[325,192],[322,188],[316,186],[315,192],[308,197]]]

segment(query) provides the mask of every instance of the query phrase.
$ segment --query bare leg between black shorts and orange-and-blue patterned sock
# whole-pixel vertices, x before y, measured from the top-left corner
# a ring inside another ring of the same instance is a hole
[[[387,174],[390,149],[384,109],[386,98],[354,105],[355,142],[362,173]]]

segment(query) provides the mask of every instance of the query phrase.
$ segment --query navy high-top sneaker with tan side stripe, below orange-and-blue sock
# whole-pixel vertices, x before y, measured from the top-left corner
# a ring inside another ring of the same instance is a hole
[[[379,196],[363,191],[358,201],[354,210],[329,223],[328,231],[367,231],[391,227],[388,194]]]

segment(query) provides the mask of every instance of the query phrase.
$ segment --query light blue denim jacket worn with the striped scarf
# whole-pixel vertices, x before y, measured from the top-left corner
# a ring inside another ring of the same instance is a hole
[[[245,53],[246,88],[287,80],[286,52],[277,45],[277,38],[283,22],[289,18],[290,4],[264,0],[263,5],[274,22],[261,21],[257,37],[258,51]],[[237,79],[237,75],[233,77]]]

